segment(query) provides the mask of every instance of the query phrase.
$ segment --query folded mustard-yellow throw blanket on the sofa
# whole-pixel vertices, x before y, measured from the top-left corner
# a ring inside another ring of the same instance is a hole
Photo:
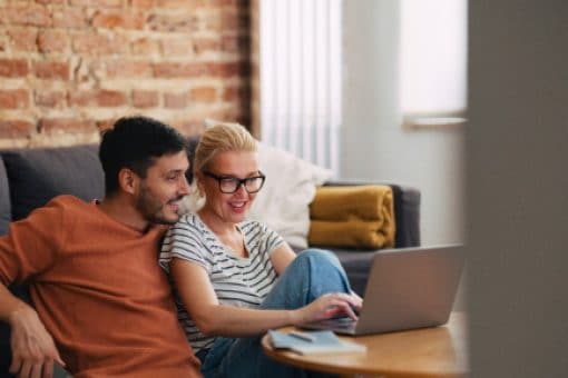
[[[310,245],[394,247],[393,197],[388,186],[319,188],[310,217]]]

